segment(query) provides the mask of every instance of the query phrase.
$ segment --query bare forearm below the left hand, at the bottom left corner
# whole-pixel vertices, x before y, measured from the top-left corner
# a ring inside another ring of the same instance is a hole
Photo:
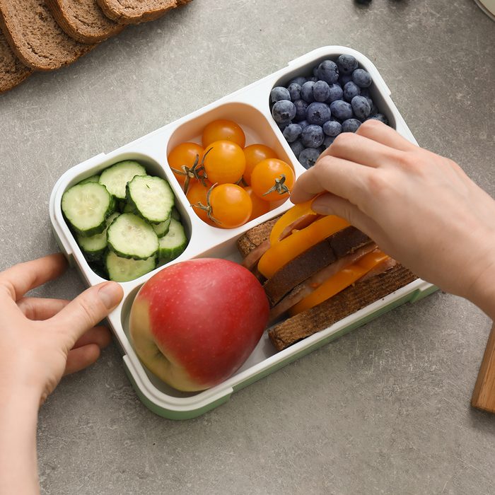
[[[36,425],[39,399],[0,380],[0,494],[39,494]]]

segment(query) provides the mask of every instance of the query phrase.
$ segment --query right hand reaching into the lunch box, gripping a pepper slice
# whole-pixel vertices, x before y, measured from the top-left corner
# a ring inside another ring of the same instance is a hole
[[[324,194],[321,194],[324,193]],[[344,133],[291,194],[369,235],[441,289],[495,313],[495,201],[459,165],[368,120]]]

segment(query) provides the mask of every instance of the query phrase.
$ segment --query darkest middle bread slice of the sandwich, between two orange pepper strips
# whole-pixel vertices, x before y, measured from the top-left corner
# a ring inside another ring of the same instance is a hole
[[[373,241],[355,227],[347,227],[285,264],[263,285],[274,306],[295,286],[339,258],[350,255]]]

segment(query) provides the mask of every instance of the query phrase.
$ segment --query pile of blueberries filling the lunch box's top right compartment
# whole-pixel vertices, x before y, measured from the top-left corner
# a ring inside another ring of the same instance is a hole
[[[341,132],[356,132],[368,119],[388,124],[370,98],[372,82],[355,57],[340,55],[315,66],[313,76],[272,89],[272,116],[303,167],[313,166]]]

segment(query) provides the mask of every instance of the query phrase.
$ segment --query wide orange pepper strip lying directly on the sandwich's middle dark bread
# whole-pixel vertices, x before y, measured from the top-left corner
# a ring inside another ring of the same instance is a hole
[[[349,227],[339,216],[327,215],[270,246],[258,262],[259,272],[269,279],[281,267],[330,235]]]

